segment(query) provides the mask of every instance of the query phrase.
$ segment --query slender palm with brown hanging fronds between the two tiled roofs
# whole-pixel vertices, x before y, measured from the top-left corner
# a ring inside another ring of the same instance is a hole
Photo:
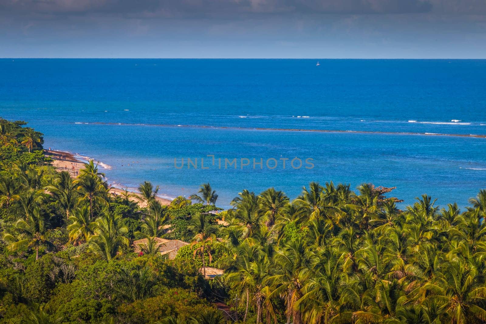
[[[206,278],[206,258],[205,253],[209,253],[206,249],[208,243],[214,241],[215,237],[214,234],[217,232],[218,228],[208,222],[208,220],[204,217],[204,214],[198,213],[194,215],[191,219],[191,224],[188,226],[188,229],[194,233],[194,237],[192,238],[192,245],[200,244],[201,246],[194,251],[194,256],[199,253],[202,255],[203,258],[203,276]],[[211,254],[209,253],[209,262],[211,262]]]

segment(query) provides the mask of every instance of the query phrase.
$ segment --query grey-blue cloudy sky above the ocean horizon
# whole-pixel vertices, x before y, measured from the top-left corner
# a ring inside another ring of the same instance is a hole
[[[0,0],[0,57],[486,58],[486,0]]]

